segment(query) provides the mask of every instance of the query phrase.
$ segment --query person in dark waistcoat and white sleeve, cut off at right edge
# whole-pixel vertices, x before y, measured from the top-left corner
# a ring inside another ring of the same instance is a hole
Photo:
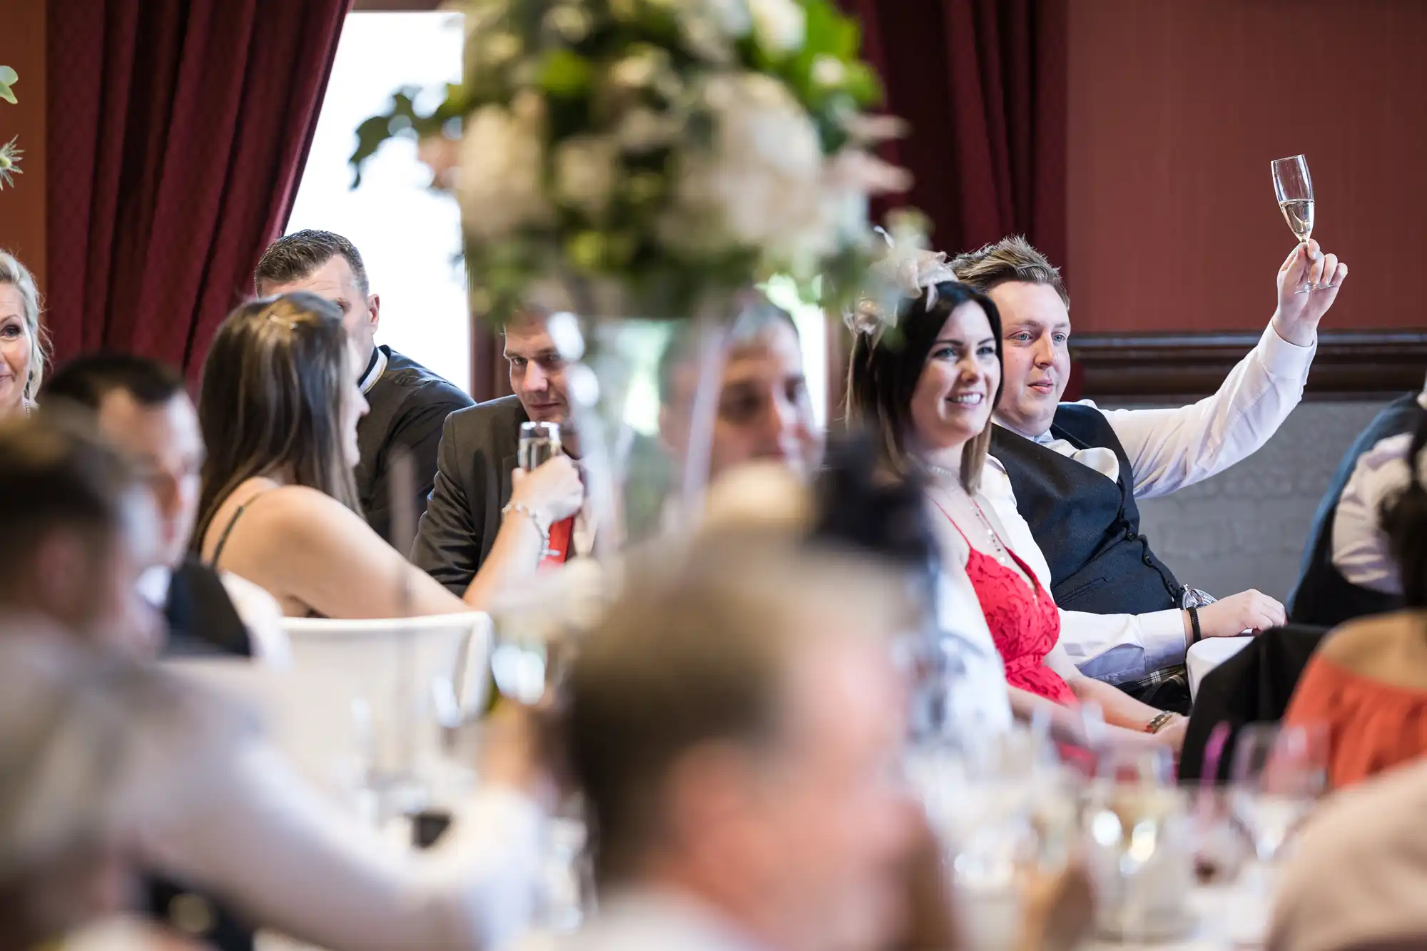
[[[1427,411],[1427,387],[1388,403],[1357,437],[1329,484],[1289,595],[1289,620],[1337,627],[1403,607],[1403,583],[1381,527],[1383,504],[1411,481],[1407,450]]]

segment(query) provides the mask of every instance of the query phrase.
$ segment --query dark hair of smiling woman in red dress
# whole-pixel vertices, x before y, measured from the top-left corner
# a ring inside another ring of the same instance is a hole
[[[875,428],[882,437],[885,461],[906,476],[910,470],[909,437],[912,434],[912,394],[932,353],[932,344],[946,324],[946,318],[962,304],[973,303],[986,311],[990,333],[996,341],[996,363],[1000,354],[1000,311],[989,297],[959,283],[936,286],[936,303],[928,306],[928,296],[906,301],[898,313],[896,327],[876,334],[858,333],[852,340],[852,360],[848,366],[848,418]],[[996,383],[992,411],[1000,403],[1005,374]],[[962,451],[962,485],[976,491],[986,447],[990,444],[990,421]]]

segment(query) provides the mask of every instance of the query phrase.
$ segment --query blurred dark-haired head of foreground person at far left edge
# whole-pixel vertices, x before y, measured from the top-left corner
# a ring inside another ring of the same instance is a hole
[[[153,498],[78,420],[47,410],[0,424],[0,615],[153,645],[154,618],[134,591],[158,547]]]

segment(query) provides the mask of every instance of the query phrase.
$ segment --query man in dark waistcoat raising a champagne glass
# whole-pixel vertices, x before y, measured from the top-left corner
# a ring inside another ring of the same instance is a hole
[[[1284,611],[1259,591],[1213,601],[1182,585],[1140,534],[1136,498],[1203,481],[1273,436],[1303,396],[1319,320],[1347,266],[1317,241],[1296,247],[1279,268],[1279,306],[1259,346],[1214,396],[1177,410],[1113,411],[1060,401],[1070,377],[1070,297],[1057,268],[1025,238],[962,254],[952,270],[1000,310],[1005,394],[983,491],[996,505],[1013,503],[1029,525],[1036,545],[1019,548],[1050,581],[1066,650],[1090,677],[1156,705],[1186,707],[1183,677],[1167,668],[1184,663],[1192,643],[1274,627]],[[1296,293],[1307,280],[1333,287]],[[1036,564],[1035,547],[1047,564]]]

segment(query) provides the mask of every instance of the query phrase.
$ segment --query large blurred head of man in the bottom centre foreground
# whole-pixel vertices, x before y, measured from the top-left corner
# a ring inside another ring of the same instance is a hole
[[[786,951],[899,924],[903,588],[868,561],[714,533],[582,644],[569,757],[601,891],[674,891]]]

